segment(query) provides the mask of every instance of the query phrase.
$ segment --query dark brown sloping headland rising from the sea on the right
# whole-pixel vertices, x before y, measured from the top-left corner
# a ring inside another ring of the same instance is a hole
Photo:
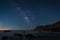
[[[51,30],[51,31],[60,31],[60,21],[46,25],[46,26],[37,26],[34,30]]]

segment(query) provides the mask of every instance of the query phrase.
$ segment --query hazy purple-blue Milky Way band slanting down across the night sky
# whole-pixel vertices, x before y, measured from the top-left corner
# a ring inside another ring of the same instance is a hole
[[[10,0],[11,3],[16,7],[18,11],[20,11],[20,14],[24,17],[28,25],[36,25],[36,17],[35,14],[29,9],[29,4],[27,4],[26,0]],[[25,5],[24,5],[25,4]]]

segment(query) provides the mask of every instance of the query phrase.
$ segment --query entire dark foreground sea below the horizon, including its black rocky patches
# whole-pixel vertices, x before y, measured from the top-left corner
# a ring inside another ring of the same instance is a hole
[[[60,32],[49,31],[0,31],[0,40],[55,40],[60,39]]]

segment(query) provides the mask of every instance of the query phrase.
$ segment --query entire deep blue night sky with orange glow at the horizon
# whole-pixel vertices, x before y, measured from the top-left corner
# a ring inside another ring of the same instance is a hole
[[[28,30],[59,20],[59,0],[0,0],[1,28]]]

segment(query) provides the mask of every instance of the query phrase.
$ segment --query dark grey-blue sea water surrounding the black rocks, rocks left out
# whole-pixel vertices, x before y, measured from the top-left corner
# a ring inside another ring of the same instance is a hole
[[[22,37],[15,37],[14,34],[15,33],[19,33],[22,34]],[[33,36],[36,36],[36,38],[28,38],[25,37],[25,35],[28,34],[33,34]],[[48,38],[59,38],[60,37],[60,32],[51,32],[51,31],[32,31],[32,30],[12,30],[11,32],[4,32],[4,31],[0,31],[0,40],[2,40],[1,38],[3,36],[7,36],[8,38],[6,40],[11,40],[10,37],[13,37],[12,40],[48,40]],[[40,36],[40,38],[38,37]],[[51,39],[52,39],[51,38]],[[60,39],[60,38],[59,38]]]

